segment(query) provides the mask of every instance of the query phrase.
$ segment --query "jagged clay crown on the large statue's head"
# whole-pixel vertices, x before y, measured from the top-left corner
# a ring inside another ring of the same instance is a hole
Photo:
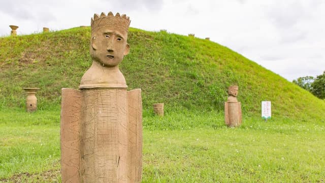
[[[94,14],[91,18],[91,33],[102,27],[111,27],[127,33],[130,22],[130,18],[125,14],[122,16],[119,13],[114,16],[112,12],[109,12],[107,16],[104,12],[101,15]]]

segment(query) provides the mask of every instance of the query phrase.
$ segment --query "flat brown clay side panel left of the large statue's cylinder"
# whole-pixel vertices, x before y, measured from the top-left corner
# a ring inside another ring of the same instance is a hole
[[[63,183],[80,182],[80,90],[62,88],[61,102],[61,179]]]

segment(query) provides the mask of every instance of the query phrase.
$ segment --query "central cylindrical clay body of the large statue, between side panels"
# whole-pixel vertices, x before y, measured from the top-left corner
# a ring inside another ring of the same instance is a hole
[[[81,91],[81,180],[125,182],[128,142],[126,88]]]

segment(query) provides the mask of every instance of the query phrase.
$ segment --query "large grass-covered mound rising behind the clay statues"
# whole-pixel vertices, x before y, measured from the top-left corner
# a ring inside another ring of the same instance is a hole
[[[61,88],[78,88],[90,67],[90,28],[0,38],[0,108],[24,107],[22,87],[40,87],[39,109],[58,109]],[[144,109],[223,110],[226,89],[239,85],[245,115],[260,115],[272,101],[272,115],[321,120],[325,102],[281,76],[217,43],[130,28],[131,52],[120,70],[129,89],[141,88]]]

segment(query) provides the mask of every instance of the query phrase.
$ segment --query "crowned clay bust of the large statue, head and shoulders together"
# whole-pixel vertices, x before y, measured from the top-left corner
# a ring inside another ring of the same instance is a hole
[[[91,67],[82,76],[79,88],[126,88],[118,64],[129,52],[126,43],[130,20],[125,15],[109,12],[95,14],[91,19]],[[105,76],[105,77],[103,77]]]

